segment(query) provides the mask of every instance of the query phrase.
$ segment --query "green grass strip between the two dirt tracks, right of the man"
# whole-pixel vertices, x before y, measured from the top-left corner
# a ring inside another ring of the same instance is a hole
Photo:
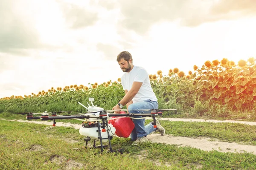
[[[150,122],[147,120],[146,123]],[[209,137],[222,142],[256,145],[256,126],[239,123],[160,121],[166,134],[185,137]]]

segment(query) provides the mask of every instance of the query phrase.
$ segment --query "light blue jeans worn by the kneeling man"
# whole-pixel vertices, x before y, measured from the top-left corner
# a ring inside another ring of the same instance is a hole
[[[158,102],[151,101],[150,99],[145,100],[144,102],[137,102],[129,105],[128,111],[129,113],[151,113],[151,111],[138,111],[140,109],[157,109],[158,108]],[[142,118],[142,116],[133,116],[135,118]],[[152,123],[149,123],[145,126],[145,119],[132,119],[134,122],[134,130],[131,132],[131,140],[135,141],[137,137],[143,137],[147,136],[148,134],[154,132],[157,130],[157,128],[154,128],[154,125]]]

